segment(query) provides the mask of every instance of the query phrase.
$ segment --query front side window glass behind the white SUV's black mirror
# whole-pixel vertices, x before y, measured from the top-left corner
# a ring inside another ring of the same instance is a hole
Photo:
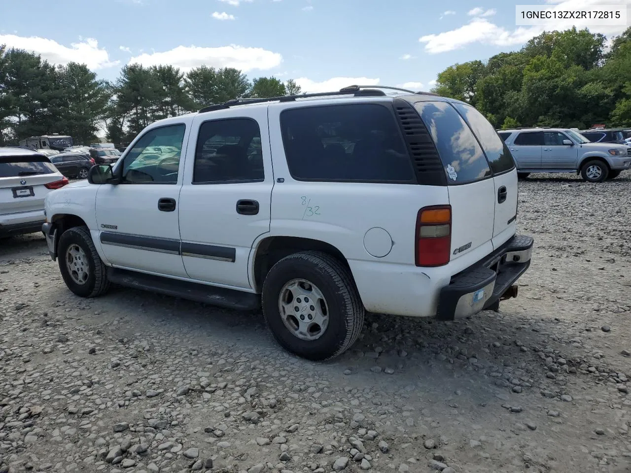
[[[184,141],[184,125],[170,125],[146,132],[125,157],[122,182],[126,184],[176,184]],[[170,155],[156,155],[153,146],[174,146]],[[103,151],[99,152],[105,153]]]

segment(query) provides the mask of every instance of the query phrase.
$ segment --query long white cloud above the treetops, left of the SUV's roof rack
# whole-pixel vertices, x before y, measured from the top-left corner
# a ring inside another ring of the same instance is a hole
[[[278,52],[262,48],[243,47],[237,45],[221,47],[178,46],[163,52],[144,53],[129,59],[129,64],[158,66],[172,64],[182,71],[190,71],[202,65],[213,67],[235,67],[244,72],[252,69],[266,70],[277,67],[283,61]]]

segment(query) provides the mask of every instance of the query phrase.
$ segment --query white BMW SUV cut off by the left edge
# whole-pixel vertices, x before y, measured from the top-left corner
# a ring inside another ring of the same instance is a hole
[[[41,231],[44,197],[66,184],[42,153],[0,148],[0,238]]]

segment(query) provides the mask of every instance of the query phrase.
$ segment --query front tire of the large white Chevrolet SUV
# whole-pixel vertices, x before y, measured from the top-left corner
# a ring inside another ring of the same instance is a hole
[[[74,271],[69,266],[69,258],[74,260],[77,265],[75,267],[80,266],[87,271]],[[75,226],[62,233],[57,244],[57,262],[66,286],[78,296],[97,297],[110,288],[105,265],[94,247],[90,231],[85,226]]]

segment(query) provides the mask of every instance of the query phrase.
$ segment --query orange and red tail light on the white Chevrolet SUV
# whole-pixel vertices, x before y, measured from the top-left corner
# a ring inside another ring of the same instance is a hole
[[[451,257],[451,206],[423,207],[416,217],[416,266],[443,266]]]

